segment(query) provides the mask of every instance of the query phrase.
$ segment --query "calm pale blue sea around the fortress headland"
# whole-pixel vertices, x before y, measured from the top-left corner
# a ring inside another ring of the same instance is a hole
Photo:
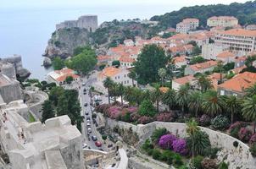
[[[0,11],[0,57],[22,56],[31,78],[44,79],[51,69],[42,67],[42,53],[55,25],[83,14],[97,14],[99,23],[113,19],[149,19],[170,12],[167,6],[103,6],[97,8],[23,9]]]

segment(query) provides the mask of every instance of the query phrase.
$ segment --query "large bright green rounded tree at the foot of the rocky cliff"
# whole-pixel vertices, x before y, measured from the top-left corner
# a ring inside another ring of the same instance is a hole
[[[80,54],[66,62],[66,66],[74,69],[79,74],[88,74],[95,67],[96,63],[95,51],[90,47],[86,47]]]

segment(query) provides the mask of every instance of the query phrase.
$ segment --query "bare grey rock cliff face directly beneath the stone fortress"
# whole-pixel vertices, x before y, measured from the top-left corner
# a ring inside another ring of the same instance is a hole
[[[50,58],[70,57],[75,47],[88,44],[90,44],[90,35],[86,29],[59,29],[53,32],[43,56]]]

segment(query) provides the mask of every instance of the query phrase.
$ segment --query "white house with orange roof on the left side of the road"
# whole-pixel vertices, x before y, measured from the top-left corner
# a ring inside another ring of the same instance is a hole
[[[47,74],[47,81],[49,83],[55,83],[56,85],[64,85],[67,77],[72,77],[75,81],[80,79],[80,76],[70,68],[63,68],[61,70],[55,70]]]

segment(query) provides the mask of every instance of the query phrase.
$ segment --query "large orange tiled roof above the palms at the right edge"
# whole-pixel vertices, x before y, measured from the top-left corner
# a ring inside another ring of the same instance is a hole
[[[223,84],[220,84],[219,87],[224,88],[225,90],[233,90],[242,92],[248,87],[256,83],[256,74],[250,72],[244,72],[242,74],[237,74],[232,79],[225,81]]]

